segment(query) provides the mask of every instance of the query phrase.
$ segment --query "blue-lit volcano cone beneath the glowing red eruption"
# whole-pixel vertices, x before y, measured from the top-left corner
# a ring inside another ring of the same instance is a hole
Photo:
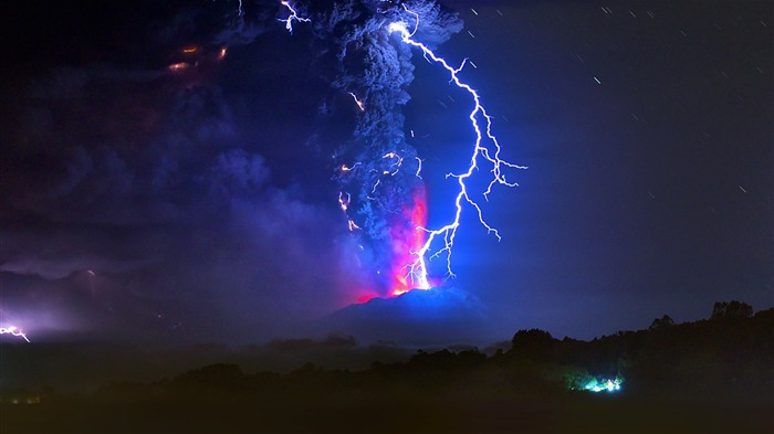
[[[313,322],[315,332],[344,332],[363,343],[453,345],[491,336],[485,307],[454,287],[412,289],[397,297],[354,304]]]

